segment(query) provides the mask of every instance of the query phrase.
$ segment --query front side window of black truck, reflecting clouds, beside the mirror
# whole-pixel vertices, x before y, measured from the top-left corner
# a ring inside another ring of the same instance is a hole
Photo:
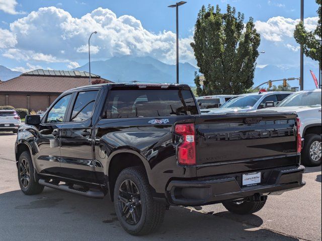
[[[62,123],[71,94],[67,94],[49,110],[45,123]]]

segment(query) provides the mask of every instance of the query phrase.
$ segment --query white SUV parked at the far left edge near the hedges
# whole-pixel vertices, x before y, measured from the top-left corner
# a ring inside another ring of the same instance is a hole
[[[15,110],[0,110],[0,132],[17,133],[20,126],[20,117]]]

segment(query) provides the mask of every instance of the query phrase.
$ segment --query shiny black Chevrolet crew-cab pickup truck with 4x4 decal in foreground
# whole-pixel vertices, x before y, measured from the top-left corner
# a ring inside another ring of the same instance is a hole
[[[159,227],[170,205],[250,214],[305,184],[298,125],[285,112],[201,115],[187,85],[85,86],[26,117],[18,180],[27,195],[44,186],[109,195],[134,235]]]

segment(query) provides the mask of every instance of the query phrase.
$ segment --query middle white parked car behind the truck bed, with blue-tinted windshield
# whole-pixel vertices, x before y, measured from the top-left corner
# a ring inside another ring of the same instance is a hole
[[[221,105],[220,108],[208,109],[210,110],[208,114],[249,112],[256,109],[274,107],[291,93],[272,91],[237,95]],[[201,113],[204,114],[202,110]]]

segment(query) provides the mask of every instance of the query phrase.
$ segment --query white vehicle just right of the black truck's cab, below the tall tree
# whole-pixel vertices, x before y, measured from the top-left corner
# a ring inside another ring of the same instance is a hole
[[[210,108],[218,108],[235,95],[207,95],[196,97],[198,106],[204,113],[209,112]]]

